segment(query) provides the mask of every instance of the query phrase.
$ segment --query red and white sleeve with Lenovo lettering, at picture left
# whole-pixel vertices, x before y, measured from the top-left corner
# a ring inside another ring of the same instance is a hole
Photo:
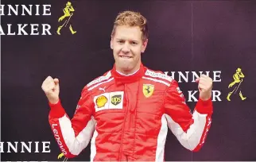
[[[72,120],[65,113],[60,100],[56,104],[49,103],[49,106],[48,121],[61,152],[68,158],[79,155],[87,147],[95,129],[90,91],[83,89]]]

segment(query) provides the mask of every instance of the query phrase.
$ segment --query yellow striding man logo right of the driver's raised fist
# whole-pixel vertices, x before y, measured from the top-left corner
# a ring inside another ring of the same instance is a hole
[[[238,68],[233,75],[234,81],[228,85],[228,88],[231,88],[231,91],[227,95],[227,101],[231,101],[231,95],[235,95],[236,92],[239,92],[239,96],[242,100],[245,100],[246,97],[242,95],[242,81],[244,79],[245,75],[242,73],[242,69]]]

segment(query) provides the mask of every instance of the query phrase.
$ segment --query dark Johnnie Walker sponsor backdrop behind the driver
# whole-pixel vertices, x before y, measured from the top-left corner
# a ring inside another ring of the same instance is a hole
[[[173,76],[192,110],[196,75],[214,80],[214,114],[204,147],[190,152],[169,131],[165,160],[256,160],[256,2],[1,3],[1,160],[64,160],[48,125],[41,83],[48,75],[60,79],[60,98],[72,118],[83,87],[114,64],[111,30],[122,10],[147,17],[143,63]],[[89,155],[87,146],[72,160]]]

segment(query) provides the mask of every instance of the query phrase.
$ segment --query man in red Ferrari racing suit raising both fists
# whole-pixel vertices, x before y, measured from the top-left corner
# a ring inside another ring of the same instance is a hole
[[[185,148],[202,147],[211,125],[212,79],[196,79],[200,98],[191,114],[177,82],[143,66],[147,43],[145,17],[119,13],[111,33],[114,68],[83,88],[72,120],[61,106],[59,80],[45,79],[49,123],[66,157],[91,140],[91,161],[163,161],[168,127]]]

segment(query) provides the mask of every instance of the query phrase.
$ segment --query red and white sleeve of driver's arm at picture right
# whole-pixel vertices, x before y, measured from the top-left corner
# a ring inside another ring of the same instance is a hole
[[[180,144],[192,151],[198,151],[204,144],[211,125],[212,102],[199,99],[193,113],[173,80],[165,94],[165,118]]]

